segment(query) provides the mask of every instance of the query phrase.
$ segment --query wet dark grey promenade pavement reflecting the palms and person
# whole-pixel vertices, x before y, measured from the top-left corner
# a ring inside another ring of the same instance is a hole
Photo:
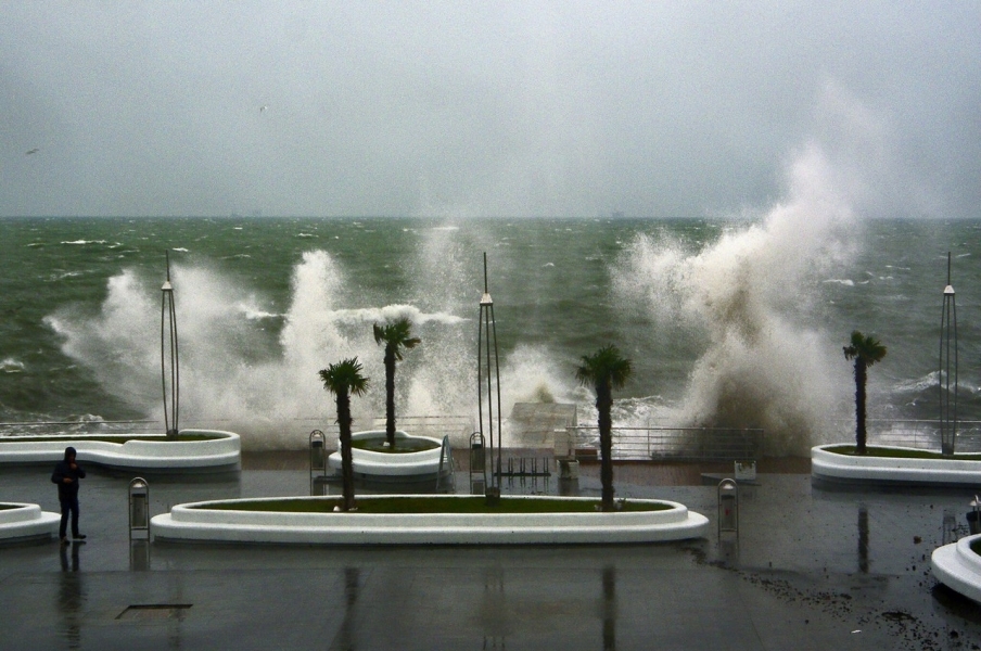
[[[130,544],[132,476],[90,469],[87,545],[0,547],[0,649],[981,649],[981,604],[938,586],[929,564],[966,534],[971,492],[830,492],[800,463],[761,463],[759,485],[740,486],[738,539],[719,539],[699,470],[617,467],[615,484],[703,513],[708,539],[365,549]],[[0,470],[0,500],[56,511],[49,475]],[[153,514],[309,494],[302,463],[272,455],[221,480],[148,478]],[[598,496],[598,467],[577,485],[502,488]]]

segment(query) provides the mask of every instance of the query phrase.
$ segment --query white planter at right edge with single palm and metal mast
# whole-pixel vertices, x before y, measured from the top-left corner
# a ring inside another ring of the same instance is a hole
[[[927,485],[981,484],[981,460],[963,459],[899,459],[891,457],[839,455],[826,448],[842,444],[811,448],[811,475],[830,482],[876,482]],[[850,444],[849,444],[850,445]],[[895,446],[891,449],[915,449]]]

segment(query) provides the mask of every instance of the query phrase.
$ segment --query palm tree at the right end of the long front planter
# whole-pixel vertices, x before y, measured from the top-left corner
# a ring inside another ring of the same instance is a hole
[[[596,390],[596,409],[599,412],[600,482],[602,483],[603,511],[613,511],[613,390],[621,388],[630,376],[630,360],[625,359],[620,349],[610,344],[593,355],[583,356],[583,366],[575,376],[584,386]]]

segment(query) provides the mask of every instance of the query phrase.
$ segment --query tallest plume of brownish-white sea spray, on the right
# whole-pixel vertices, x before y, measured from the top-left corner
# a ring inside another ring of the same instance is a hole
[[[763,427],[766,451],[806,454],[839,411],[844,374],[836,334],[815,320],[821,281],[854,253],[856,229],[816,146],[790,170],[789,196],[759,224],[700,251],[638,235],[613,269],[624,302],[708,339],[689,374],[679,424]]]

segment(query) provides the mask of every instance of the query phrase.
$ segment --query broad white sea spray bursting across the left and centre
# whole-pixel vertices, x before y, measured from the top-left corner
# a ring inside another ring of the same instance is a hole
[[[383,350],[371,326],[403,316],[422,345],[398,366],[398,413],[475,422],[481,282],[463,240],[458,229],[430,231],[416,252],[407,290],[412,304],[364,305],[371,297],[360,294],[356,279],[324,251],[301,255],[281,312],[272,297],[227,271],[176,265],[181,424],[235,431],[251,450],[302,448],[310,430],[329,430],[334,420],[317,371],[357,356],[371,383],[353,401],[355,426],[371,426],[384,406]],[[158,302],[160,279],[127,268],[110,278],[97,311],[75,304],[46,319],[65,354],[146,418],[162,410]],[[560,373],[545,353],[526,347],[502,362],[507,409],[514,399],[540,398],[543,392],[563,395]]]

